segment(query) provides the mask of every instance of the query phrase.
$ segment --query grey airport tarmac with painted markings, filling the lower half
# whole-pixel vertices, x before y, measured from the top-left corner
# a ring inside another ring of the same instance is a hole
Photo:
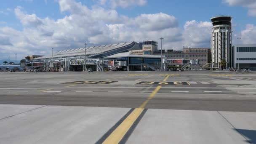
[[[256,72],[0,72],[0,144],[256,144]]]

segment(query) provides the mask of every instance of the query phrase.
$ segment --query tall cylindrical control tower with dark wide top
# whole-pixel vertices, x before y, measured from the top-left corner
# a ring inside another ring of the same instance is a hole
[[[232,17],[216,16],[211,18],[211,57],[213,68],[221,68],[220,62],[225,59],[226,67],[232,66]]]

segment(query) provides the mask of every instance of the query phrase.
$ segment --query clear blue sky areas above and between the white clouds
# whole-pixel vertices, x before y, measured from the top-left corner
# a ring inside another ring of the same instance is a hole
[[[12,11],[7,11],[7,8],[14,9],[17,6],[22,6],[27,13],[35,13],[39,17],[50,17],[52,19],[61,19],[68,13],[61,13],[58,2],[54,0],[4,0],[0,5],[0,11],[7,14],[0,14],[0,19],[7,24],[1,26],[11,26],[17,30],[22,30],[22,24],[16,19]],[[98,3],[94,0],[76,0],[91,7]],[[164,3],[164,5],[163,5]],[[237,24],[236,29],[240,30],[246,24],[255,24],[255,17],[248,16],[248,8],[242,6],[229,6],[222,0],[148,0],[147,4],[139,7],[117,8],[118,13],[136,17],[141,13],[167,13],[176,16],[179,21],[179,26],[182,27],[186,21],[210,21],[212,16],[224,14],[233,17],[233,23]]]

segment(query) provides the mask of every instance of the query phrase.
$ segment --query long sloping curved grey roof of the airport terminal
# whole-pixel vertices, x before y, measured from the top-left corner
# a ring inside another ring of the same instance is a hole
[[[139,44],[136,42],[126,42],[110,45],[99,45],[86,48],[86,56],[89,58],[102,58],[105,56],[110,56],[120,52],[126,52],[128,50],[138,50]],[[58,51],[53,53],[53,58],[65,58],[65,57],[75,57],[84,56],[85,48],[75,48],[69,50]],[[52,56],[42,56],[35,59],[50,59]]]

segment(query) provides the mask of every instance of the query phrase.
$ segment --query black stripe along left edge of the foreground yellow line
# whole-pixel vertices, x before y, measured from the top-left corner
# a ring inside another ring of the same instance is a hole
[[[130,109],[129,112],[127,112],[114,126],[112,126],[112,128],[109,129],[109,131],[107,131],[107,133],[105,133],[95,144],[102,144],[108,137],[109,135],[115,131],[115,129],[121,124],[123,123],[123,121],[126,119],[126,117],[128,117],[132,112],[133,112],[134,108]]]

